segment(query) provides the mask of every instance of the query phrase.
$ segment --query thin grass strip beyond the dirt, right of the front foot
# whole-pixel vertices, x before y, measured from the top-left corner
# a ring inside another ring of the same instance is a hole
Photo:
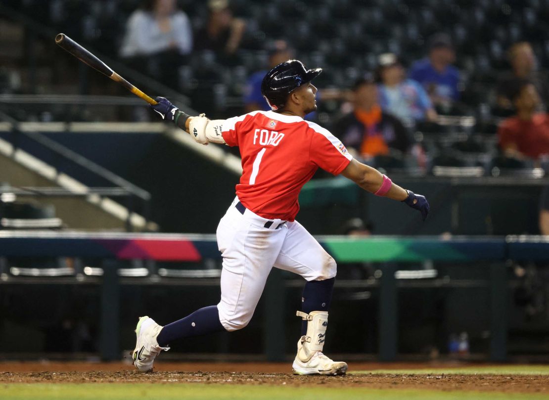
[[[549,375],[549,365],[497,365],[464,368],[376,369],[352,371],[351,374],[406,374],[406,375]]]

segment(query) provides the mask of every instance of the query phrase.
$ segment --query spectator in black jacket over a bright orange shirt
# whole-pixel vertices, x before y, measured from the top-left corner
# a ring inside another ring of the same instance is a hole
[[[341,118],[337,136],[349,151],[363,158],[389,154],[389,149],[404,153],[411,140],[407,128],[396,117],[382,111],[378,88],[373,78],[360,78],[353,86],[354,110]]]

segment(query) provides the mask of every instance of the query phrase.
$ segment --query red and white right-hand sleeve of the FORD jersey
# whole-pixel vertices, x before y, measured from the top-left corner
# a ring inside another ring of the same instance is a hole
[[[327,129],[314,123],[309,123],[313,129],[309,157],[313,164],[324,171],[339,175],[352,160],[352,156],[341,140],[333,136]]]

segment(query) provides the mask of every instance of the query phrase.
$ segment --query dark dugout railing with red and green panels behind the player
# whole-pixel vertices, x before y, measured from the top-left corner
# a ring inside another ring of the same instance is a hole
[[[397,291],[400,279],[411,279],[412,272],[399,271],[396,263],[433,262],[483,262],[489,268],[490,279],[490,354],[492,361],[507,358],[508,330],[508,277],[507,260],[547,261],[549,260],[549,237],[547,236],[371,236],[349,238],[345,236],[320,236],[321,245],[340,264],[356,262],[380,263],[382,275],[379,285],[379,359],[395,360],[397,357]],[[214,235],[181,234],[130,234],[130,233],[83,233],[83,232],[0,232],[0,285],[47,283],[44,279],[21,279],[9,271],[9,257],[95,257],[103,260],[100,280],[102,285],[102,313],[100,353],[103,359],[119,359],[119,343],[113,340],[119,329],[119,303],[121,283],[126,284],[192,284],[216,285],[219,268],[206,273],[172,273],[172,277],[156,268],[149,269],[145,277],[128,277],[119,273],[117,263],[122,260],[156,260],[200,262],[219,259],[220,253]],[[215,272],[214,272],[215,271]],[[420,271],[422,272],[422,271]],[[423,275],[432,273],[425,270]],[[272,319],[281,313],[277,308],[279,294],[285,284],[279,274],[271,280],[265,291],[266,302],[270,304]],[[422,277],[423,277],[422,275]],[[429,275],[434,277],[435,275]],[[82,273],[72,278],[63,277],[58,283],[89,283]],[[57,278],[51,278],[57,279]],[[124,281],[127,279],[128,281]],[[213,279],[213,280],[212,280]],[[51,280],[53,282],[53,280]],[[289,283],[292,285],[291,281]],[[349,282],[360,287],[371,285],[364,281]],[[440,280],[438,285],[448,284]],[[278,311],[277,311],[278,310]],[[284,354],[281,321],[266,320],[265,355],[269,360],[280,360]]]

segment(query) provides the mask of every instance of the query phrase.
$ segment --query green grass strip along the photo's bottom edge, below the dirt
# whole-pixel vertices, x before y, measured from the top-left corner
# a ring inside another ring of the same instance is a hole
[[[285,386],[192,384],[4,384],[2,400],[146,399],[146,400],[541,400],[547,395],[429,390],[376,390]]]

